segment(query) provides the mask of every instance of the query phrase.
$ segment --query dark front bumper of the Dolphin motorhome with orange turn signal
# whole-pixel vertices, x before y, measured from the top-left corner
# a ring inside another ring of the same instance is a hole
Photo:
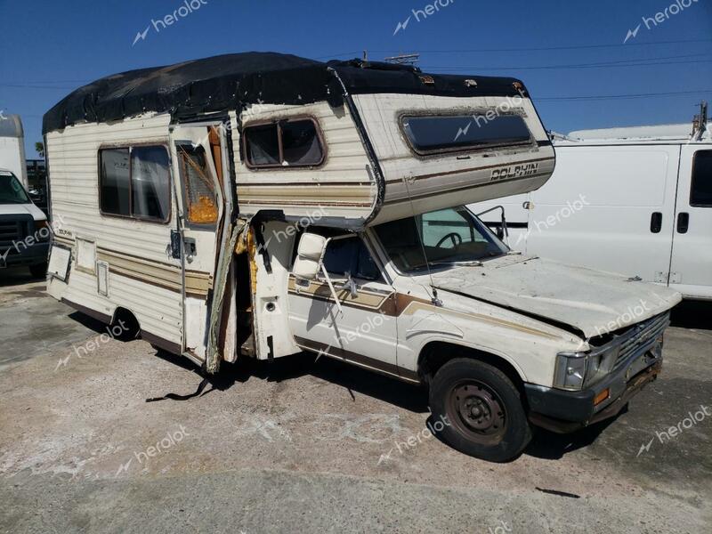
[[[530,407],[530,421],[557,433],[569,433],[603,419],[615,417],[662,369],[662,338],[644,344],[610,375],[579,392],[537,384],[524,384]],[[595,404],[595,399],[608,396]]]

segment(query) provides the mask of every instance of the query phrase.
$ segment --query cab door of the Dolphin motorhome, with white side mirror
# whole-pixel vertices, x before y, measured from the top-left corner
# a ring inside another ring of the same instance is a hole
[[[323,263],[341,310],[326,279],[300,287],[292,277],[289,319],[296,343],[397,376],[395,291],[366,242],[353,234],[333,237]]]

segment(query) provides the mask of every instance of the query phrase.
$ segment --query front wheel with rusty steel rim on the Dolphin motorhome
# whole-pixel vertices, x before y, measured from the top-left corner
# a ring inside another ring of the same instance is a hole
[[[490,462],[506,462],[522,452],[531,429],[519,392],[489,364],[457,358],[433,377],[430,408],[446,425],[441,437],[454,449]]]

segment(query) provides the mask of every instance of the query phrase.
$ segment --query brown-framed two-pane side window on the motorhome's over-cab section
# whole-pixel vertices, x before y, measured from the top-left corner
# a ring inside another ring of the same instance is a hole
[[[247,126],[243,139],[249,167],[319,166],[324,161],[317,125],[312,119]]]

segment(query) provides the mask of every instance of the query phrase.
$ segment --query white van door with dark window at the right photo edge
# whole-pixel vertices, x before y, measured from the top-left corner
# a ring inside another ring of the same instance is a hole
[[[684,145],[677,182],[670,287],[712,298],[712,148]]]

